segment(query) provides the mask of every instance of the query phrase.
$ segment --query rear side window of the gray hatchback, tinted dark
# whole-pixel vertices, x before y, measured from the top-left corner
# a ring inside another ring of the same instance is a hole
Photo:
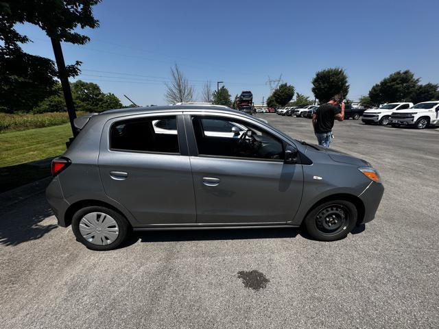
[[[176,116],[113,123],[110,128],[110,149],[179,154]]]

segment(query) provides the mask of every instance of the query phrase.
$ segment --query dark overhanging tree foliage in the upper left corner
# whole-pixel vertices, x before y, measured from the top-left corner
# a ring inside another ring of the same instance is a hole
[[[0,107],[7,112],[29,112],[38,103],[56,95],[58,71],[48,58],[30,55],[21,44],[31,40],[16,31],[16,25],[30,23],[47,36],[84,45],[88,36],[78,27],[95,28],[93,5],[99,0],[2,0],[0,2]],[[79,73],[80,62],[67,66],[69,76]]]

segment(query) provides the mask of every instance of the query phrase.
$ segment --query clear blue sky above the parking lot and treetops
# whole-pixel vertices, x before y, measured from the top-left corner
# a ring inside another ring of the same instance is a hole
[[[87,45],[63,44],[78,78],[141,105],[164,104],[164,82],[177,63],[200,97],[202,83],[224,81],[231,95],[270,94],[268,76],[309,95],[316,71],[346,70],[357,99],[383,77],[410,69],[439,83],[438,0],[141,1],[104,0]],[[51,43],[32,25],[25,51],[53,59]]]

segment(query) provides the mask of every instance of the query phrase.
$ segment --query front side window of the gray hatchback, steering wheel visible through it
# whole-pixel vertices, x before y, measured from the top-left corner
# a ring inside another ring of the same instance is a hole
[[[192,117],[200,156],[283,160],[283,143],[265,130],[224,117]]]

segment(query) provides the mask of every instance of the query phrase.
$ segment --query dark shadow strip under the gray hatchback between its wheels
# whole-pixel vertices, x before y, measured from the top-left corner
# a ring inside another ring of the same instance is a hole
[[[174,242],[174,241],[215,241],[215,240],[245,240],[245,239],[283,239],[295,238],[299,228],[237,228],[230,230],[154,230],[132,232],[126,247],[141,242]]]

